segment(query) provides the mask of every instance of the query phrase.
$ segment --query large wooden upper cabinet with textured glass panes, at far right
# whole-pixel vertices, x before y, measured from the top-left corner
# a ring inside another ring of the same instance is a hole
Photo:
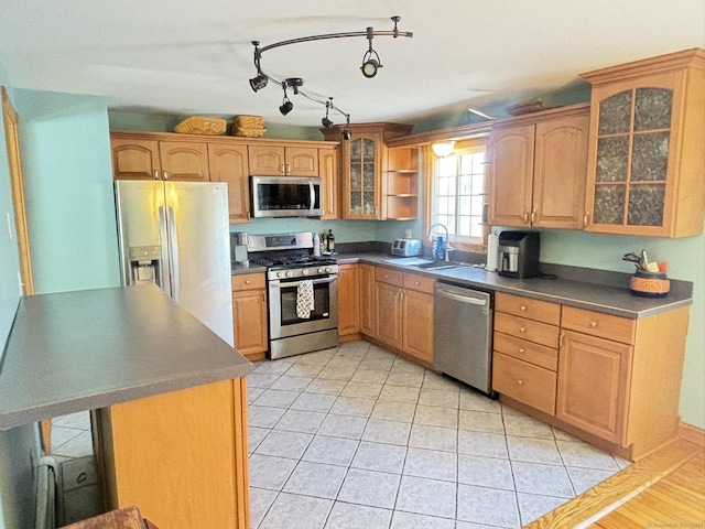
[[[586,230],[685,237],[705,213],[705,50],[582,74],[593,85]]]

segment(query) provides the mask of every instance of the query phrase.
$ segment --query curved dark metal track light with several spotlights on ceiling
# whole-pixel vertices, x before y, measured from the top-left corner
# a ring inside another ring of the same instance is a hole
[[[252,41],[252,45],[254,46],[254,67],[257,68],[257,75],[250,79],[250,87],[252,88],[253,91],[259,91],[262,88],[264,88],[270,80],[278,85],[284,86],[284,102],[282,102],[282,106],[280,107],[280,111],[285,115],[285,114],[289,114],[293,108],[293,105],[291,104],[291,101],[289,101],[289,98],[286,97],[286,86],[289,86],[293,88],[294,94],[302,95],[305,98],[311,99],[312,101],[317,102],[319,105],[325,105],[326,118],[324,119],[328,119],[328,111],[333,109],[339,112],[341,116],[345,116],[349,126],[350,115],[347,112],[344,112],[338,107],[333,105],[333,98],[328,98],[329,100],[326,101],[325,99],[311,96],[308,94],[305,94],[303,90],[300,90],[300,87],[304,83],[302,78],[291,77],[282,82],[264,73],[260,64],[262,60],[262,54],[274,47],[286,46],[290,44],[299,44],[302,42],[322,41],[327,39],[345,39],[350,36],[364,36],[369,41],[369,50],[362,57],[362,66],[361,66],[362,75],[365,75],[365,77],[368,77],[368,78],[375,77],[375,75],[377,75],[377,71],[382,67],[382,64],[379,60],[379,55],[372,48],[372,39],[375,36],[392,36],[397,39],[399,36],[412,37],[414,35],[411,31],[403,31],[403,32],[399,31],[398,24],[399,24],[399,21],[401,20],[401,17],[392,17],[391,20],[394,22],[394,29],[392,31],[375,31],[372,28],[367,28],[366,31],[356,31],[356,32],[349,32],[349,33],[328,33],[324,35],[312,35],[312,36],[302,36],[299,39],[290,39],[288,41],[275,42],[274,44],[270,44],[263,47],[260,47],[259,41]],[[284,110],[286,110],[286,112],[284,112]],[[324,123],[324,127],[325,127],[325,123]],[[348,136],[350,136],[349,129],[347,129],[347,132],[348,132]],[[345,130],[344,130],[344,136],[345,136]]]

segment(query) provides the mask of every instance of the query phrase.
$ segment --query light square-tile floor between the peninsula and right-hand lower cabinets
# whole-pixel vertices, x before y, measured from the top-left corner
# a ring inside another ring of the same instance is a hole
[[[248,391],[258,529],[518,528],[629,465],[367,342]]]

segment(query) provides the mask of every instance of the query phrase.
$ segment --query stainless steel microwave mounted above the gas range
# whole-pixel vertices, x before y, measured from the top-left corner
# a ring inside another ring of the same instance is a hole
[[[253,217],[321,217],[317,176],[250,176]]]

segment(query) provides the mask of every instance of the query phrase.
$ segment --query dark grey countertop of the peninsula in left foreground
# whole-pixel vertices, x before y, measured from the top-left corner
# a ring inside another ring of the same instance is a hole
[[[251,370],[154,285],[26,296],[0,364],[0,430]]]

